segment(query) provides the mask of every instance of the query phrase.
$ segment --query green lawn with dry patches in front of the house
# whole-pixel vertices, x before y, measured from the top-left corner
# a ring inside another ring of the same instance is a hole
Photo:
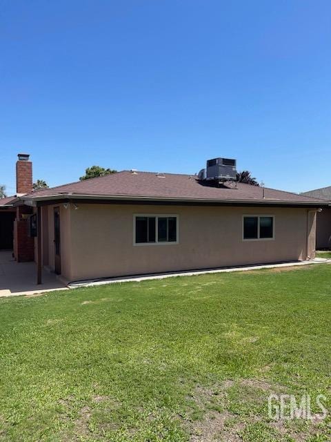
[[[331,266],[0,299],[1,441],[330,441]],[[313,407],[314,408],[314,407]],[[319,411],[319,410],[313,410]]]

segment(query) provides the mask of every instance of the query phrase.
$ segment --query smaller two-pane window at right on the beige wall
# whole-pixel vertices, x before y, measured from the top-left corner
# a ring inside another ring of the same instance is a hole
[[[243,240],[274,239],[274,216],[245,215],[243,217]]]

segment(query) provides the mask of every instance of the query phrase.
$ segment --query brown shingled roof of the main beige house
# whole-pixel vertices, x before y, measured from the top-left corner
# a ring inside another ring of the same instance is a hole
[[[201,184],[194,175],[132,171],[41,189],[21,197],[22,200],[41,201],[60,198],[323,205],[323,202],[313,198],[274,189],[264,189],[263,198],[263,188],[250,184],[237,183],[237,189],[230,186],[212,187]]]

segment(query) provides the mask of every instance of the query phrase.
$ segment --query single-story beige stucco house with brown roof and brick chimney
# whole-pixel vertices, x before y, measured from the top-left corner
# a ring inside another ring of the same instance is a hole
[[[307,260],[315,256],[317,210],[329,204],[200,175],[140,171],[32,192],[31,162],[18,163],[22,186],[3,206],[16,210],[18,260],[34,241],[39,282],[42,266],[73,281]]]

